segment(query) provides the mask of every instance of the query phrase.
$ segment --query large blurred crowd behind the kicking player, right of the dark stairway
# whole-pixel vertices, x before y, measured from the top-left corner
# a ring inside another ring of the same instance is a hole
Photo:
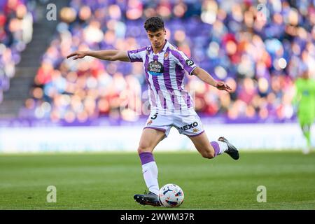
[[[165,20],[171,43],[233,89],[228,94],[186,76],[201,116],[293,118],[294,80],[302,72],[315,74],[311,0],[72,0],[59,14],[62,22],[21,116],[84,123],[102,116],[134,121],[148,114],[141,63],[66,55],[149,45],[143,25],[154,15]]]

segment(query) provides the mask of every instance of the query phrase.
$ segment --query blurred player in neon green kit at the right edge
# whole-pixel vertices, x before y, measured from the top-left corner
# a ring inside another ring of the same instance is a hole
[[[310,78],[307,69],[295,81],[295,88],[296,94],[293,102],[297,106],[297,118],[307,140],[307,148],[303,148],[303,153],[307,154],[311,150],[311,125],[315,117],[315,80]]]

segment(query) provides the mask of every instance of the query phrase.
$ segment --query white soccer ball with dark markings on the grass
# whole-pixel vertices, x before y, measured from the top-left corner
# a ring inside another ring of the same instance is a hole
[[[159,193],[160,202],[164,207],[179,207],[183,203],[183,190],[174,183],[162,186]]]

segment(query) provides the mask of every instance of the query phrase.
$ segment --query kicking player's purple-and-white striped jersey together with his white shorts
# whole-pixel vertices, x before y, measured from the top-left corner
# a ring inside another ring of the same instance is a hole
[[[169,134],[171,127],[190,137],[204,132],[202,122],[193,107],[193,98],[185,90],[185,71],[192,75],[197,64],[183,52],[165,40],[160,52],[155,54],[148,45],[128,50],[130,62],[143,62],[148,84],[151,114],[144,128],[152,128]]]

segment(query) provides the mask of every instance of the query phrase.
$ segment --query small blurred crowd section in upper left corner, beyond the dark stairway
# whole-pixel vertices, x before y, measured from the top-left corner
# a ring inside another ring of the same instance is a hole
[[[32,1],[0,1],[0,104],[3,92],[10,87],[20,52],[25,50],[33,34]]]

